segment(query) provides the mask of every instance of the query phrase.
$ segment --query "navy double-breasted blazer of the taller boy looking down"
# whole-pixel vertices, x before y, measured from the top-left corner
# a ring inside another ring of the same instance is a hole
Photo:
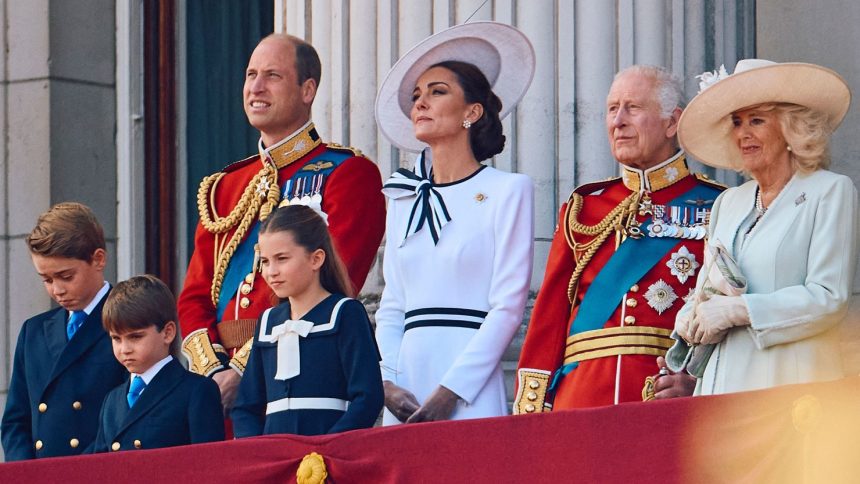
[[[102,400],[128,379],[102,328],[106,298],[71,341],[63,308],[24,322],[0,425],[7,461],[77,455],[95,438]]]

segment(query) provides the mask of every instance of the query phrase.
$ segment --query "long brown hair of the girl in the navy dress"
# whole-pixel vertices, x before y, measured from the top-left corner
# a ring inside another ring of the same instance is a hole
[[[272,212],[260,225],[260,235],[272,232],[289,232],[297,245],[308,252],[322,249],[325,261],[320,268],[320,284],[331,293],[353,297],[352,283],[338,257],[328,233],[328,226],[314,209],[305,205],[288,205]]]

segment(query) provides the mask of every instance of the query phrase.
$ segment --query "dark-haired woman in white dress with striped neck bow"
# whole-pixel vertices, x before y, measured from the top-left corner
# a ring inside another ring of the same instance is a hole
[[[502,151],[500,119],[533,69],[522,33],[476,22],[420,43],[380,89],[386,137],[406,150],[429,146],[383,189],[385,425],[507,413],[501,358],[528,297],[533,188],[480,162]]]

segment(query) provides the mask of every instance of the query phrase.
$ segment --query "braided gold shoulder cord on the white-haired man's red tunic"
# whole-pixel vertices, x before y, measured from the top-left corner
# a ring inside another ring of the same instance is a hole
[[[574,193],[570,198],[570,208],[567,211],[567,226],[570,231],[568,244],[573,249],[574,257],[576,258],[576,268],[573,274],[570,275],[570,282],[567,284],[567,298],[571,304],[573,304],[576,297],[576,289],[579,284],[579,278],[582,276],[582,271],[591,262],[594,254],[597,253],[597,249],[616,230],[624,232],[631,216],[635,217],[639,207],[639,193],[633,192],[628,195],[627,198],[606,214],[603,220],[596,225],[585,225],[579,222],[578,217],[580,210],[582,210],[582,201],[582,195]],[[594,238],[590,242],[579,244],[575,241],[574,234],[590,235],[594,236]],[[582,257],[576,257],[581,252],[584,252]]]

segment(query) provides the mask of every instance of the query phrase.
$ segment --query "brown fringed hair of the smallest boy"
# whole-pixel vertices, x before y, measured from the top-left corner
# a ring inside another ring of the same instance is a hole
[[[108,294],[102,309],[102,326],[107,332],[127,333],[155,326],[160,333],[170,321],[176,325],[170,354],[176,356],[182,339],[176,317],[176,299],[166,284],[149,274],[134,276],[117,284]]]

